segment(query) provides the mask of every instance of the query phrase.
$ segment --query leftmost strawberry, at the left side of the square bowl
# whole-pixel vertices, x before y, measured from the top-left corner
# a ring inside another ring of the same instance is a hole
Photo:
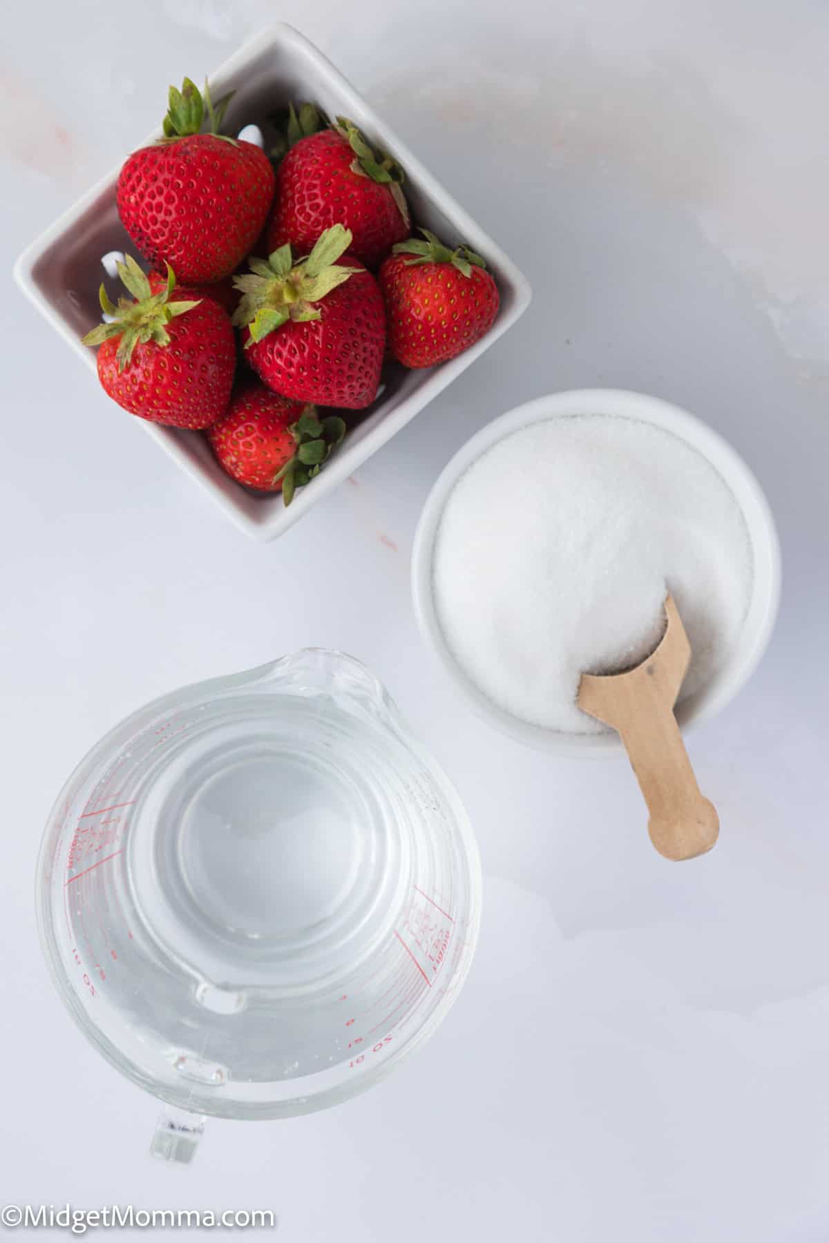
[[[179,290],[168,268],[153,292],[148,277],[128,255],[118,275],[133,295],[118,306],[101,286],[101,306],[113,317],[83,338],[101,346],[98,379],[113,401],[150,423],[208,428],[225,413],[236,367],[236,341],[227,314],[210,298]]]

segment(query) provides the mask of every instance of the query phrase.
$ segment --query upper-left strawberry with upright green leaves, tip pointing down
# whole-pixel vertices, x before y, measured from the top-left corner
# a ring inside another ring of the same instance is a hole
[[[219,281],[247,255],[273,199],[267,155],[252,143],[216,133],[230,96],[214,109],[205,83],[170,87],[164,134],[124,162],[118,214],[150,264],[170,264],[188,283]],[[204,108],[211,133],[201,134]]]

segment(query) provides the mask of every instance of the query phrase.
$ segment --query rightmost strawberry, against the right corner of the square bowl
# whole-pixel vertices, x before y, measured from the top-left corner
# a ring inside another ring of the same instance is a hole
[[[394,247],[379,272],[389,352],[404,367],[455,358],[490,331],[498,288],[467,246],[449,250],[428,229]],[[406,257],[409,256],[409,257]]]

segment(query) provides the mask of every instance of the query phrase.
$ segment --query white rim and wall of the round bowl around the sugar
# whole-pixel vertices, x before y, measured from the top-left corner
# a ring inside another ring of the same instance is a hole
[[[518,742],[570,755],[619,752],[614,732],[563,733],[531,725],[495,704],[457,664],[437,622],[434,599],[435,537],[449,495],[476,459],[492,445],[531,423],[579,414],[608,414],[638,419],[671,431],[702,454],[731,488],[748,527],[753,557],[752,595],[740,643],[731,656],[694,695],[677,705],[685,728],[705,721],[726,706],[759,664],[774,629],[781,594],[781,551],[774,520],[759,484],[742,457],[707,424],[669,401],[620,389],[577,389],[536,398],[482,428],[455,454],[424,506],[411,554],[411,589],[418,624],[469,705],[490,725]]]

